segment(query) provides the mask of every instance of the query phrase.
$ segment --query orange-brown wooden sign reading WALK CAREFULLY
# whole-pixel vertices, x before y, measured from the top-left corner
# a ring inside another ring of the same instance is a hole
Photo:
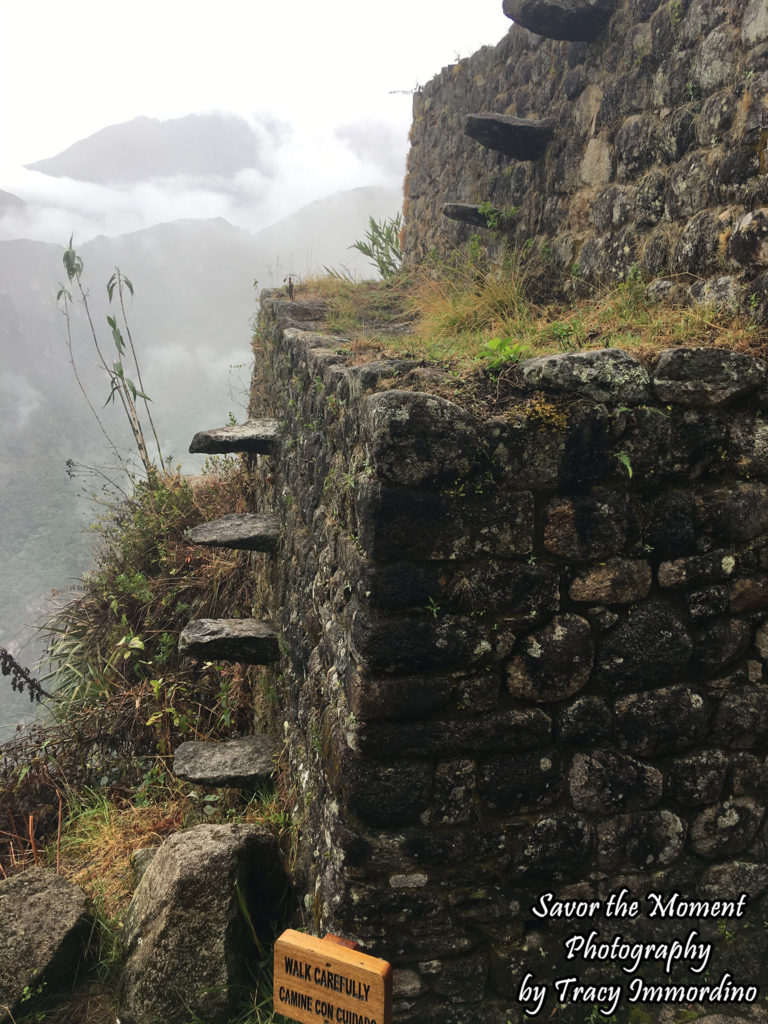
[[[274,943],[273,1001],[300,1024],[391,1024],[392,966],[289,928]]]

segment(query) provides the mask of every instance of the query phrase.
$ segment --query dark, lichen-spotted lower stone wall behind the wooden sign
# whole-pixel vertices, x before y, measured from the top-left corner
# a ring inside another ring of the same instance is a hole
[[[483,420],[322,317],[264,293],[252,408],[284,424],[259,472],[308,927],[393,963],[398,1024],[504,1024],[527,974],[630,980],[565,965],[591,923],[541,894],[745,892],[743,918],[602,928],[695,928],[708,978],[765,982],[766,366],[529,359]]]

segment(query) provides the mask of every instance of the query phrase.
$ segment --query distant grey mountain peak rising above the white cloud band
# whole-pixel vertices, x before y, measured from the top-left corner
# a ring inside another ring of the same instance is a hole
[[[102,128],[54,157],[26,166],[53,177],[98,184],[231,177],[268,166],[270,152],[287,131],[280,121],[268,118],[252,127],[244,118],[224,114],[189,114],[169,121],[138,117]]]

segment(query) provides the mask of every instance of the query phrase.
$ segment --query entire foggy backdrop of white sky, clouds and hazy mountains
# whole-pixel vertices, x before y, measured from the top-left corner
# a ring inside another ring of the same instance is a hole
[[[119,265],[167,453],[242,419],[258,287],[343,266],[394,216],[412,93],[509,28],[501,0],[54,0],[8,5],[0,34],[0,646],[31,664],[51,591],[92,558],[91,495],[112,473],[77,391],[55,294],[70,237],[99,329]],[[78,317],[94,404],[106,396]],[[108,408],[117,442],[127,429]],[[67,472],[67,460],[79,469]],[[94,471],[95,470],[95,471]],[[32,642],[30,640],[32,638]],[[0,739],[29,712],[0,680]]]

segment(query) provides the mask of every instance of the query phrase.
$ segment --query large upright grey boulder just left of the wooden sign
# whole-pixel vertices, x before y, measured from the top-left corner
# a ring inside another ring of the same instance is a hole
[[[225,1024],[246,992],[257,932],[275,915],[285,877],[258,825],[198,825],[167,840],[128,909],[123,1024]]]

